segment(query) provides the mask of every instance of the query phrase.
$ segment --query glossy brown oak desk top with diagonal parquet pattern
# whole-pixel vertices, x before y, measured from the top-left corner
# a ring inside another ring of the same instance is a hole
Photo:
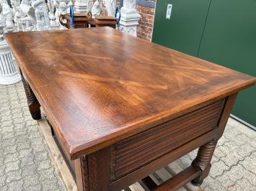
[[[255,83],[109,27],[4,36],[71,159]]]

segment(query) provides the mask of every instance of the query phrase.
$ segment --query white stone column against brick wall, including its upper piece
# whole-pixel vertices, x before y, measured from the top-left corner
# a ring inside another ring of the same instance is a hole
[[[137,36],[138,20],[141,18],[136,10],[136,0],[124,0],[121,9],[120,31]]]

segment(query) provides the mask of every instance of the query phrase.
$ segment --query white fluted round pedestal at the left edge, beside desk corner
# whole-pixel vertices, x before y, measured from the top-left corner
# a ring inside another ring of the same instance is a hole
[[[9,85],[20,80],[22,79],[17,73],[9,46],[5,40],[2,40],[0,42],[0,84]]]

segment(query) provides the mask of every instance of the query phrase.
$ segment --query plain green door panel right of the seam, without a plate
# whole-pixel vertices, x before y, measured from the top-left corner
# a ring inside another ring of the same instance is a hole
[[[256,77],[256,1],[212,0],[198,57]],[[256,126],[256,87],[231,112]]]

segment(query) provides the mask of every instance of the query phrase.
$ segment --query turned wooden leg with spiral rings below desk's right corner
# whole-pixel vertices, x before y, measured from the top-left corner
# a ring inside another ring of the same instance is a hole
[[[194,185],[200,185],[203,183],[211,169],[211,157],[213,157],[214,149],[216,148],[216,141],[210,141],[207,144],[201,146],[198,150],[198,155],[192,162],[192,166],[200,169],[200,176],[192,181]]]

